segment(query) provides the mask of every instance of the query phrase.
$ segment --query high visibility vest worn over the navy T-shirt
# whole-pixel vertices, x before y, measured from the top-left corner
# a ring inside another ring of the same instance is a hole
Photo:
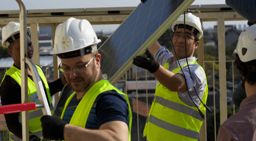
[[[89,113],[92,109],[92,104],[94,103],[95,99],[102,92],[106,92],[106,91],[109,91],[109,90],[115,90],[119,94],[123,95],[124,98],[126,99],[126,102],[128,103],[128,107],[129,107],[129,141],[130,141],[131,140],[131,128],[132,128],[132,111],[131,111],[131,108],[130,108],[128,96],[126,94],[124,94],[122,91],[120,91],[119,89],[117,89],[116,87],[114,87],[113,85],[111,85],[108,82],[108,80],[101,80],[101,81],[96,82],[85,93],[85,95],[83,96],[83,98],[81,99],[79,104],[77,105],[76,110],[75,110],[73,116],[71,117],[71,120],[70,120],[69,124],[85,128],[87,118],[88,118]],[[64,116],[65,110],[66,110],[69,102],[71,101],[71,99],[73,98],[73,96],[75,94],[76,94],[76,92],[74,92],[72,95],[70,95],[68,97],[68,100],[65,103],[64,109],[63,109],[61,117],[60,117],[61,119]]]

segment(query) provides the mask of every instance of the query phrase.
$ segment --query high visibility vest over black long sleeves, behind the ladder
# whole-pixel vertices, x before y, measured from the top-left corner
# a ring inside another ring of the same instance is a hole
[[[41,79],[44,82],[44,86],[46,88],[49,103],[50,103],[50,105],[52,105],[50,89],[49,89],[48,83],[47,83],[47,81],[44,77],[44,73],[43,73],[42,69],[39,66],[36,66],[36,68],[37,68],[39,76],[41,77]],[[12,66],[9,70],[7,70],[7,72],[5,73],[5,76],[6,75],[10,75],[20,85],[20,88],[21,88],[20,69],[18,69],[17,67]],[[3,78],[2,82],[3,81],[4,81],[4,78]],[[29,77],[28,77],[28,102],[35,102],[36,104],[40,103],[39,100],[38,100],[37,93],[36,93],[35,83]],[[42,111],[41,108],[37,108],[36,110],[28,111],[29,131],[32,132],[32,134],[36,135],[37,137],[42,136],[42,127],[41,127],[41,121],[40,121],[40,118],[42,116],[43,116],[43,111]],[[21,123],[21,112],[19,113],[19,122]],[[11,132],[11,140],[22,141],[21,138],[15,136],[12,132]]]

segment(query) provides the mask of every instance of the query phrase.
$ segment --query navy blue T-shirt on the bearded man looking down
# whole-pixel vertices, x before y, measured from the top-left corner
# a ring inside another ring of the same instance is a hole
[[[70,122],[81,99],[76,100],[76,95],[74,95],[62,118],[64,122]],[[85,128],[99,129],[102,124],[111,121],[123,121],[129,126],[128,103],[124,96],[116,91],[106,91],[97,96],[92,104]]]

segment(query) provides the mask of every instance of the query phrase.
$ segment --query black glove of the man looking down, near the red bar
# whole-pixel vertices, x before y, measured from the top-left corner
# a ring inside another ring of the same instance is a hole
[[[59,116],[44,115],[41,117],[43,137],[51,140],[62,139],[64,126],[68,123],[62,121]]]

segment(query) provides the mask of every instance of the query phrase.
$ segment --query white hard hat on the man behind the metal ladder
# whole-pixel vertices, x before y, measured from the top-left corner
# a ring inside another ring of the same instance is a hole
[[[27,32],[30,34],[30,27],[27,27]],[[15,36],[17,33],[20,33],[20,23],[9,22],[5,25],[2,28],[2,46],[8,47],[15,39],[20,38],[20,35]]]

